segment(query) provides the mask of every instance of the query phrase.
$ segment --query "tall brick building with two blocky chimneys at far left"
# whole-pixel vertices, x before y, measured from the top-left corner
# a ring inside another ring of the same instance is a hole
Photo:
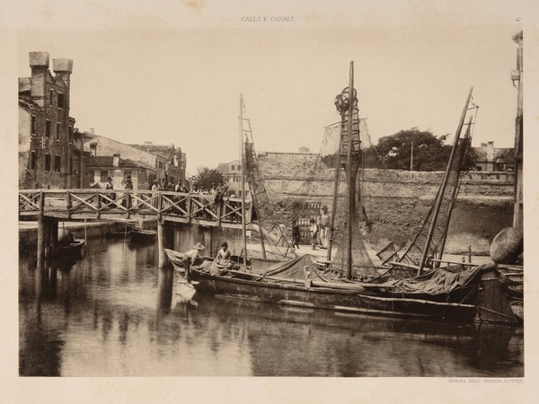
[[[87,187],[87,166],[75,119],[69,116],[73,60],[30,52],[31,77],[19,78],[19,187]]]

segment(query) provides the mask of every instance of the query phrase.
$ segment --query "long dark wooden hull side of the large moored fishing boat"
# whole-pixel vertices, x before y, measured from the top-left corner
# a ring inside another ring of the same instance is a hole
[[[256,302],[441,321],[471,322],[477,314],[477,309],[472,304],[380,297],[329,287],[275,284],[212,276],[196,269],[191,270],[190,277],[195,289],[201,294]]]

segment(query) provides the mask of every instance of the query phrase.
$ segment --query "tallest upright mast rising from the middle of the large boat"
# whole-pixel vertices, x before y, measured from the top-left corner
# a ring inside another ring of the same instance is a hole
[[[347,279],[352,277],[352,217],[356,217],[352,213],[352,208],[355,206],[354,198],[356,198],[355,192],[351,192],[351,181],[355,176],[352,175],[352,118],[354,114],[354,62],[350,62],[350,79],[349,79],[349,122],[348,122],[348,161],[347,161],[347,189],[348,189],[348,217],[346,218],[347,225],[347,263],[346,263],[346,275]],[[354,164],[355,168],[355,164]]]

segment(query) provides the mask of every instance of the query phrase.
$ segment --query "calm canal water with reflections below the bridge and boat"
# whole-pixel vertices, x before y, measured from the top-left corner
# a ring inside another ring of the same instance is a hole
[[[523,329],[286,308],[193,294],[154,244],[91,240],[19,261],[22,376],[524,376]]]

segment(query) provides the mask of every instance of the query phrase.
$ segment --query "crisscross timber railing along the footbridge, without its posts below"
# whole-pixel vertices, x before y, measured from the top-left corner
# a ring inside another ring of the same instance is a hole
[[[252,207],[245,203],[246,222]],[[172,191],[119,189],[21,189],[19,215],[67,219],[130,219],[155,215],[183,223],[242,224],[242,199]]]

